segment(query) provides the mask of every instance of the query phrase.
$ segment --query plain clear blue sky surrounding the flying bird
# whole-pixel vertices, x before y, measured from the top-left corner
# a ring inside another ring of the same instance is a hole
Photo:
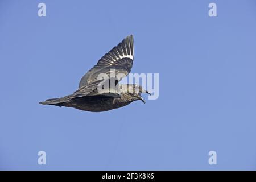
[[[38,104],[74,92],[130,34],[131,72],[159,73],[158,100],[103,113]],[[254,0],[1,0],[0,169],[255,170],[255,48]]]

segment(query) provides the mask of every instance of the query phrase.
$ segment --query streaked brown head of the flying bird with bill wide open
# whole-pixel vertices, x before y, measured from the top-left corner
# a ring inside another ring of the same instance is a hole
[[[123,84],[120,86],[121,93],[129,94],[134,101],[141,100],[144,104],[146,101],[141,96],[141,93],[150,94],[147,90],[144,90],[142,86],[136,84]]]

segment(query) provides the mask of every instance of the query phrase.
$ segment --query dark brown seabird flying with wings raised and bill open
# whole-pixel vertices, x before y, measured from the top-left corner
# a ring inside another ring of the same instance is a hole
[[[118,84],[123,77],[130,73],[131,67],[133,67],[133,58],[134,42],[133,35],[130,35],[101,57],[98,63],[81,78],[79,89],[76,92],[65,97],[51,98],[39,103],[73,107],[92,112],[117,109],[137,100],[145,103],[141,93],[150,94],[147,90],[136,84]],[[115,75],[120,74],[122,76],[120,78],[111,77],[113,71]],[[100,74],[105,74],[106,77],[99,79]],[[115,89],[109,86],[113,85],[111,83],[114,83]],[[108,92],[100,92],[99,89],[105,88]]]

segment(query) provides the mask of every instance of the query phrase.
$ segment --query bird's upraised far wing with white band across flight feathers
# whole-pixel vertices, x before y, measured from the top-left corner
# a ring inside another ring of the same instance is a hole
[[[106,73],[110,78],[110,69],[115,70],[115,75],[123,73],[128,75],[133,67],[134,43],[133,35],[127,36],[111,51],[106,53],[92,69],[90,69],[80,80],[79,88],[97,81],[101,73]]]

